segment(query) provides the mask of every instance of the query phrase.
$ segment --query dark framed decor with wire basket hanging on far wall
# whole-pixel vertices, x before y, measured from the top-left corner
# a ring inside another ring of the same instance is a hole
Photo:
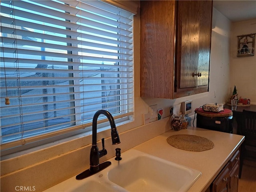
[[[254,56],[254,45],[255,45],[255,34],[239,35],[238,38],[238,47],[237,47],[237,56]]]

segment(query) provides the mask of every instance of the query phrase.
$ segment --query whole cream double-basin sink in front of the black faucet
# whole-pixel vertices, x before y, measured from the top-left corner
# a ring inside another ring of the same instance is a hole
[[[121,157],[120,161],[108,160],[110,166],[88,178],[76,180],[74,176],[45,192],[184,192],[201,176],[198,170],[138,150],[128,150]]]

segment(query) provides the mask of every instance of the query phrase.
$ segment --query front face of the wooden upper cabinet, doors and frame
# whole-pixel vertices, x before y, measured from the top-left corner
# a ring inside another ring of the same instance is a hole
[[[212,1],[178,1],[174,98],[208,91]]]

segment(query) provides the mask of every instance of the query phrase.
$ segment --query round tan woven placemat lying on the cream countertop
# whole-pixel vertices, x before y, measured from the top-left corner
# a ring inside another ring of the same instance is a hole
[[[214,147],[214,143],[196,135],[178,134],[167,138],[168,144],[186,151],[205,151]]]

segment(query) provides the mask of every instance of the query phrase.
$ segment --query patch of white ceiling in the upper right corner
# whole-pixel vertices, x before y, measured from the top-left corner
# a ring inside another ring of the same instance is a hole
[[[231,22],[256,18],[256,0],[214,0],[213,6]]]

